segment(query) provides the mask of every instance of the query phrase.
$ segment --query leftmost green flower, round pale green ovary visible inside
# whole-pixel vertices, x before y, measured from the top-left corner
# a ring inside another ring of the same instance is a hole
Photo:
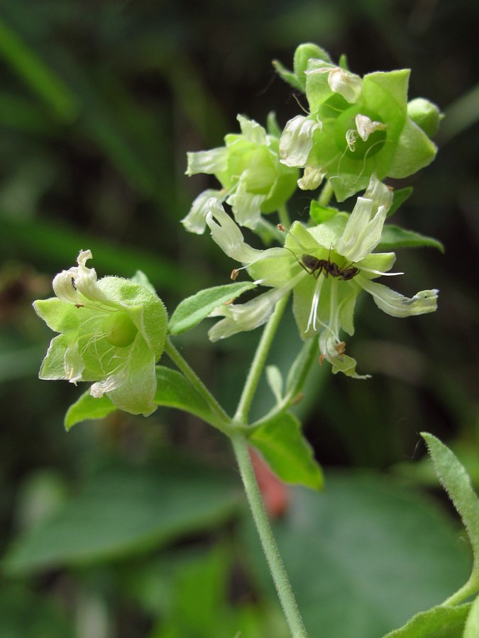
[[[97,281],[95,270],[85,265],[91,258],[82,250],[78,266],[53,279],[56,297],[33,303],[60,333],[50,343],[40,379],[94,381],[93,397],[106,394],[117,408],[148,415],[156,409],[155,363],[165,346],[165,307],[153,290],[131,279]]]

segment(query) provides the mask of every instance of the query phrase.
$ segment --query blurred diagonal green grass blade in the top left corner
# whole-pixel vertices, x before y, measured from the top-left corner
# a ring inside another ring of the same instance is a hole
[[[75,119],[78,111],[75,94],[1,18],[0,53],[57,116],[67,122]]]

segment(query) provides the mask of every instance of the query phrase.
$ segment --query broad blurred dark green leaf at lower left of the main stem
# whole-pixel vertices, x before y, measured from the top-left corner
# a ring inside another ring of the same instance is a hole
[[[20,575],[61,565],[143,554],[223,522],[238,505],[238,482],[177,452],[154,466],[98,469],[80,493],[12,544],[2,568]]]

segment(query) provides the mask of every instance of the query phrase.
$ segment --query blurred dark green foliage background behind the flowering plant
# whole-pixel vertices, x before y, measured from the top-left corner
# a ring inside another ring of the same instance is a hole
[[[87,248],[99,276],[142,269],[170,312],[227,283],[230,260],[179,223],[214,187],[185,177],[185,152],[221,145],[237,113],[297,114],[271,60],[290,66],[306,41],[358,74],[412,68],[409,97],[445,111],[397,222],[446,253],[398,254],[395,286],[439,288],[435,315],[361,308],[351,354],[373,379],[316,370],[298,414],[326,493],[288,492],[280,547],[312,638],[379,638],[466,579],[417,442],[441,437],[479,483],[478,20],[475,0],[0,0],[2,638],[287,635],[227,442],[163,408],[67,435],[80,391],[38,381],[52,335],[31,303]],[[299,194],[292,210],[306,206]],[[233,409],[258,335],[213,348],[206,333],[178,345]],[[298,345],[285,325],[274,362]]]

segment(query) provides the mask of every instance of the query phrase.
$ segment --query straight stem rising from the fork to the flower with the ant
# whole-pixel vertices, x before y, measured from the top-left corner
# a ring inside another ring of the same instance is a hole
[[[236,408],[236,414],[233,418],[233,421],[236,423],[244,425],[248,422],[248,413],[250,411],[251,403],[253,403],[255,391],[258,387],[272,340],[275,337],[277,326],[280,323],[282,313],[285,311],[288,298],[289,295],[285,295],[277,302],[275,311],[270,316],[268,323],[265,326],[265,330],[263,330],[263,335],[261,335],[258,348],[255,352],[255,357],[251,363],[248,377],[246,378],[246,384],[244,385],[243,392],[241,393],[238,408]]]

